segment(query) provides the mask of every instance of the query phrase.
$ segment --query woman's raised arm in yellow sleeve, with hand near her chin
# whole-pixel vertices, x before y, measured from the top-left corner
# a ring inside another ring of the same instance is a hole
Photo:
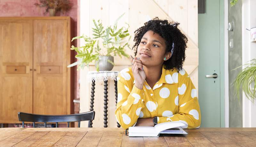
[[[143,70],[142,63],[139,59],[132,60],[132,74],[135,85],[133,86],[131,71],[122,70],[118,74],[117,80],[117,104],[116,119],[117,122],[125,129],[135,125],[142,108],[145,107],[143,102],[143,84],[146,74]]]

